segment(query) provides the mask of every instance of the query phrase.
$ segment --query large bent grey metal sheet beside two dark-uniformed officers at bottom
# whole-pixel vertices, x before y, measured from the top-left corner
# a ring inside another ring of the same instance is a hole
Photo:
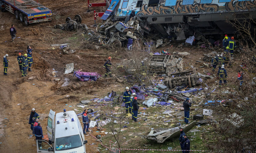
[[[158,143],[163,143],[166,140],[171,138],[179,137],[180,136],[180,128],[183,128],[183,131],[187,133],[194,127],[197,121],[193,121],[192,123],[188,124],[187,126],[181,125],[178,127],[173,128],[160,128],[156,130],[151,130],[148,135],[140,135],[142,138],[147,138],[149,140],[157,141]]]

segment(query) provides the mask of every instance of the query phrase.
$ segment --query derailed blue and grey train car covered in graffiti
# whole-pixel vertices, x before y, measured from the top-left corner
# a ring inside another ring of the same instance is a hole
[[[124,20],[135,11],[144,32],[158,31],[163,36],[172,32],[229,34],[236,30],[227,19],[256,18],[256,0],[112,0],[113,3],[115,20]]]

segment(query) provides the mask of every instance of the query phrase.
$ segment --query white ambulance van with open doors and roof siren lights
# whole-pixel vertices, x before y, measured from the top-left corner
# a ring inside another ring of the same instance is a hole
[[[55,119],[55,121],[54,121]],[[72,111],[57,113],[50,110],[47,123],[49,143],[37,140],[37,153],[86,153],[81,123]],[[41,144],[40,144],[41,142]],[[52,146],[50,145],[52,144]]]

